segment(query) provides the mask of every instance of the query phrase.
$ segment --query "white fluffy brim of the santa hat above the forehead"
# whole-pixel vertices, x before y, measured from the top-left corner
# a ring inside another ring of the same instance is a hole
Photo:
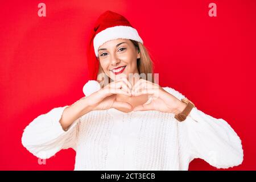
[[[143,41],[135,28],[129,26],[110,27],[98,32],[93,39],[95,55],[98,57],[98,48],[102,44],[114,39],[131,39],[143,44]]]

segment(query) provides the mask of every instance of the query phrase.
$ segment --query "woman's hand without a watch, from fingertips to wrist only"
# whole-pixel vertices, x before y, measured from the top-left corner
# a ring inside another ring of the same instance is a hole
[[[122,77],[119,80],[110,82],[104,88],[90,94],[85,97],[91,110],[106,110],[110,108],[122,107],[125,109],[132,109],[127,102],[117,101],[117,94],[124,94],[126,96],[132,96],[131,94],[132,85],[126,77]]]

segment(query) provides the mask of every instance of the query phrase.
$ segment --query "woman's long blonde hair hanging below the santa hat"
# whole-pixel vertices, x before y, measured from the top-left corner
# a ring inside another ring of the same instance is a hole
[[[137,42],[135,40],[130,40],[130,41],[134,44],[135,48],[141,53],[141,58],[137,59],[137,68],[138,68],[138,71],[139,71],[139,75],[144,73],[145,76],[146,76],[146,80],[154,82],[154,63],[151,59],[150,54],[148,53],[147,48],[140,42]],[[101,65],[100,65],[99,69],[98,69],[97,77],[101,73],[104,73],[104,71],[103,71],[103,69],[101,68]],[[150,73],[151,73],[151,76],[150,76]],[[108,83],[110,83],[111,80],[112,79],[109,77]],[[97,78],[97,81],[101,82],[102,78],[101,77]]]

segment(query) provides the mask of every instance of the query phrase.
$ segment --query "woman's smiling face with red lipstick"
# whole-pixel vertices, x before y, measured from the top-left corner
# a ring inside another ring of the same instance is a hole
[[[139,73],[137,59],[141,55],[129,39],[115,39],[102,44],[98,55],[101,68],[112,80],[124,75],[129,78],[129,73]]]

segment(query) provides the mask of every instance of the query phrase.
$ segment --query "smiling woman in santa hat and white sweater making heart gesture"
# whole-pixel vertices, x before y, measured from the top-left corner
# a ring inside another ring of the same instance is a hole
[[[38,158],[73,148],[75,170],[187,170],[195,158],[217,168],[242,163],[241,140],[224,119],[205,114],[148,76],[150,56],[122,15],[106,11],[98,18],[88,65],[100,89],[24,129],[22,144]]]

